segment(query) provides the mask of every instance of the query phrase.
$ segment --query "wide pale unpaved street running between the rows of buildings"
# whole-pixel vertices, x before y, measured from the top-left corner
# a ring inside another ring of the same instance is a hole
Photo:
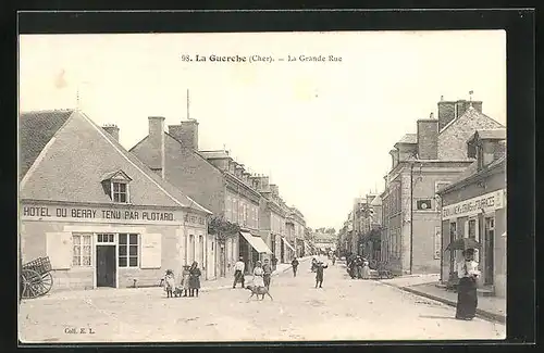
[[[239,285],[202,292],[198,299],[166,299],[162,288],[146,288],[28,300],[20,308],[20,339],[28,343],[447,340],[506,335],[504,325],[480,318],[456,320],[454,307],[375,280],[349,279],[338,263],[329,263],[322,289],[314,288],[309,262],[299,267],[296,278],[290,269],[273,277],[273,301],[267,297],[247,302],[250,292]]]

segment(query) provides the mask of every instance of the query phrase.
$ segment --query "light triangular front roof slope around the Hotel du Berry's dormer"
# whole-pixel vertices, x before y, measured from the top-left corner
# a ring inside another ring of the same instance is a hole
[[[58,129],[52,151],[48,151],[39,168],[33,172],[35,175],[29,176],[22,188],[22,198],[108,203],[111,200],[101,188],[101,178],[121,169],[133,178],[131,201],[134,204],[209,212],[160,178],[83,113],[73,112],[70,116],[65,128]],[[39,123],[35,121],[35,124]],[[34,128],[28,121],[23,129]],[[42,184],[48,187],[44,188]]]

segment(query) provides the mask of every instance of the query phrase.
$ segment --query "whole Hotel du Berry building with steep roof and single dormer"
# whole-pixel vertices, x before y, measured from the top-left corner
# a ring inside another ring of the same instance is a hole
[[[211,212],[79,111],[20,116],[22,262],[49,256],[57,289],[157,286],[197,261]]]

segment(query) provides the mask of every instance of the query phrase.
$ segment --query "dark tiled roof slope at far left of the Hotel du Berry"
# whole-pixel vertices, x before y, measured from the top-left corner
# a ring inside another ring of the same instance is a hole
[[[34,161],[67,121],[72,110],[22,113],[18,119],[20,176],[28,172]]]

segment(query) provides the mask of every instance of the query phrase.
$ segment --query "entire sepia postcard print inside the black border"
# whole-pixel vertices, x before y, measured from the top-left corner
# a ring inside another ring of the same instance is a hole
[[[505,30],[20,35],[21,343],[506,339],[506,63]]]

